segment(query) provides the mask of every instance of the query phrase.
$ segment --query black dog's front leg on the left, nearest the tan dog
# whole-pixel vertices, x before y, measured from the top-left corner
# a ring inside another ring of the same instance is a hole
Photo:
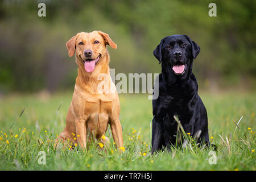
[[[152,150],[151,153],[154,154],[155,151],[162,150],[164,146],[163,131],[161,130],[158,123],[156,123],[155,118],[152,119]]]

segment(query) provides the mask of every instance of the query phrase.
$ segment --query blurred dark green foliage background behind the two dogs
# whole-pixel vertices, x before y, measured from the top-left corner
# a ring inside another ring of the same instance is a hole
[[[187,34],[201,47],[193,65],[200,88],[255,90],[255,9],[253,0],[0,1],[0,93],[72,90],[77,65],[65,43],[93,30],[118,45],[108,48],[116,74],[159,73],[152,51],[160,39]]]

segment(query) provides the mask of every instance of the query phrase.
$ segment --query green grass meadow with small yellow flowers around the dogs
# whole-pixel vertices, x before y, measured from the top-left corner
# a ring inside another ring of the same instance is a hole
[[[79,147],[55,150],[54,139],[64,129],[72,99],[72,93],[61,93],[0,99],[0,170],[255,170],[256,94],[200,96],[208,111],[210,140],[218,147],[216,165],[208,163],[212,148],[201,149],[193,143],[151,155],[152,105],[146,95],[138,94],[119,96],[125,152],[119,154],[112,137],[104,146],[106,154],[97,142],[86,152]],[[238,129],[234,122],[242,116]],[[46,152],[46,165],[38,164],[39,151]]]

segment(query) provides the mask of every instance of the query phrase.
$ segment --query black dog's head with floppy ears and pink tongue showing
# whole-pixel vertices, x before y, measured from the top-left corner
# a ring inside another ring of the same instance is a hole
[[[188,78],[192,73],[193,59],[200,47],[187,35],[172,35],[163,38],[154,50],[154,56],[162,63],[162,73],[174,82]]]

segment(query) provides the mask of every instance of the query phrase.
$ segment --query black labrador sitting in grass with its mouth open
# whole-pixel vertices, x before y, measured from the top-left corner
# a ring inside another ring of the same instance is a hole
[[[159,96],[152,101],[152,153],[175,144],[178,123],[174,115],[186,133],[192,137],[199,135],[197,143],[209,143],[207,110],[197,94],[198,85],[192,73],[193,59],[199,52],[200,47],[187,35],[167,36],[154,50],[162,73],[159,85],[154,85]]]

